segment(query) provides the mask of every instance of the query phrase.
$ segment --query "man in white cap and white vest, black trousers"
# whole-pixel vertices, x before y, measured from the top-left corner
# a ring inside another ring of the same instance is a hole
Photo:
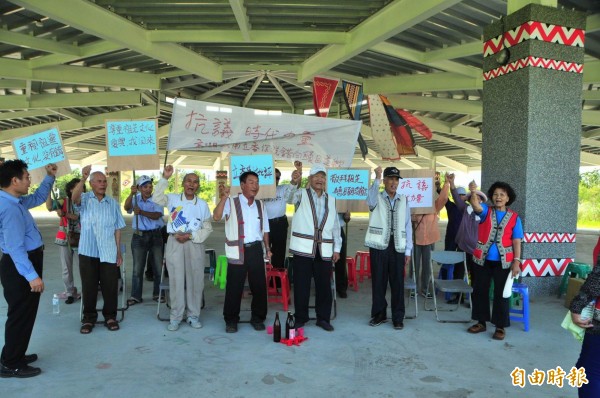
[[[315,311],[317,326],[328,332],[331,326],[331,274],[333,263],[340,257],[341,228],[335,210],[335,198],[325,192],[325,166],[314,164],[308,177],[308,188],[299,189],[301,170],[294,170],[288,192],[288,203],[297,205],[292,218],[290,253],[294,255],[294,306],[296,327],[308,322],[311,278],[315,279]]]

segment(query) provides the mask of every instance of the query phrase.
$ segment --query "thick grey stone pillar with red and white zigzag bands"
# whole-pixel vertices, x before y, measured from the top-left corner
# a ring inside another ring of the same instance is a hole
[[[482,186],[516,191],[534,292],[575,257],[584,29],[583,13],[537,4],[484,29]]]

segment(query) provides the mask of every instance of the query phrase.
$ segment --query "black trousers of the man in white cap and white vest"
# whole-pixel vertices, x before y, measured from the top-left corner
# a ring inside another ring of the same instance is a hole
[[[331,318],[331,260],[325,261],[317,250],[315,258],[294,255],[294,308],[296,323],[309,320],[308,302],[310,300],[310,282],[315,279],[315,312],[317,321],[329,322]]]

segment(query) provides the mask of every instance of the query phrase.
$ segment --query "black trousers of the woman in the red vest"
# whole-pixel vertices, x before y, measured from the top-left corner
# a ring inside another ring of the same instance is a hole
[[[502,269],[500,261],[485,260],[483,266],[475,264],[473,277],[473,313],[471,318],[485,325],[490,321],[490,284],[494,280],[494,307],[491,321],[497,328],[510,326],[509,300],[502,297],[510,268]]]

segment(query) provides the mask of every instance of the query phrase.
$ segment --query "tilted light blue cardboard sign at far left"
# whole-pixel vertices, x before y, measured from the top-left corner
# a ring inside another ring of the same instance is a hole
[[[31,182],[40,183],[46,176],[45,166],[54,163],[58,169],[56,176],[69,174],[71,165],[67,159],[58,127],[52,127],[12,142],[17,159],[27,163]]]

